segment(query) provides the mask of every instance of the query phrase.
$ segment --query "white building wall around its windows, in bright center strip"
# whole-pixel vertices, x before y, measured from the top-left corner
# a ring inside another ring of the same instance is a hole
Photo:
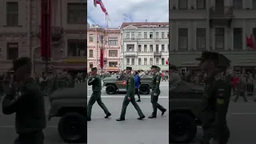
[[[126,34],[134,32],[134,40],[126,39]],[[141,38],[138,39],[138,33],[141,32]],[[144,32],[147,33],[146,38],[144,37]],[[150,38],[150,32],[153,33],[153,38]],[[156,32],[158,32],[158,38],[156,39]],[[162,32],[164,32],[164,38],[162,39]],[[154,52],[156,51],[156,45],[158,45],[158,51],[162,52],[161,57],[159,57],[159,64],[162,68],[162,70],[167,70],[168,67],[164,63],[162,65],[162,58],[165,59],[165,62],[169,58],[169,38],[167,38],[167,34],[169,34],[169,28],[168,27],[143,27],[143,28],[137,28],[135,26],[126,26],[121,30],[121,33],[123,34],[122,42],[121,44],[124,45],[124,51],[121,51],[121,58],[124,58],[124,63],[122,63],[122,66],[126,68],[127,66],[127,58],[125,57],[126,54],[136,54],[134,57],[134,65],[131,65],[132,58],[130,58],[130,65],[134,68],[134,70],[142,69],[142,70],[150,70],[150,58],[153,58],[153,65],[156,65],[156,58],[154,58]],[[127,45],[134,45],[134,52],[126,52],[128,48]],[[138,51],[138,45],[142,46],[142,51]],[[144,45],[147,46],[147,50],[144,50]],[[150,45],[153,45],[153,51],[150,51]],[[162,46],[165,46],[165,49],[162,51]],[[141,65],[139,65],[138,59],[141,58]],[[144,62],[144,58],[147,58],[147,61]]]

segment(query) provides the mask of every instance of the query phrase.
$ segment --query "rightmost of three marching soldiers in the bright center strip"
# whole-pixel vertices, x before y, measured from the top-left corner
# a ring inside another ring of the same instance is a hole
[[[161,75],[158,73],[160,67],[158,66],[151,66],[151,71],[154,73],[152,78],[152,93],[151,93],[151,103],[153,106],[153,113],[149,116],[149,118],[157,118],[157,110],[162,111],[162,115],[165,114],[166,109],[158,103],[158,96],[161,93],[160,91],[160,81]]]

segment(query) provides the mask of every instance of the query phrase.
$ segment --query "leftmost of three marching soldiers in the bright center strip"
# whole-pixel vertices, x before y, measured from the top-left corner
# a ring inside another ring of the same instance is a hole
[[[104,113],[106,114],[105,118],[110,117],[110,111],[107,110],[105,104],[102,102],[102,79],[97,74],[97,67],[94,67],[91,69],[91,77],[88,80],[88,85],[93,86],[93,94],[90,96],[90,100],[88,102],[88,108],[87,108],[87,121],[90,121],[91,118],[91,109],[94,106],[94,103],[97,101],[98,105],[101,106],[101,108],[104,110]]]

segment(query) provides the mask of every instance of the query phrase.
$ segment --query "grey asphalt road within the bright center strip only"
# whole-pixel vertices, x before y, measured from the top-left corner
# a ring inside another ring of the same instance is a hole
[[[168,109],[168,82],[161,83],[162,94],[159,98],[159,103]],[[88,87],[90,90],[90,87]],[[88,91],[88,95],[91,92]],[[161,116],[158,111],[158,118],[146,118],[139,121],[138,113],[134,106],[130,103],[126,110],[126,121],[117,122],[122,109],[122,101],[124,93],[120,92],[114,95],[107,95],[105,89],[102,89],[102,102],[110,110],[112,116],[108,119],[103,110],[98,106],[97,102],[93,106],[92,121],[87,122],[87,134],[89,144],[156,144],[168,143],[168,112]],[[138,105],[146,117],[152,113],[152,106],[150,103],[150,95],[141,95],[142,102]],[[137,96],[135,96],[136,99]]]

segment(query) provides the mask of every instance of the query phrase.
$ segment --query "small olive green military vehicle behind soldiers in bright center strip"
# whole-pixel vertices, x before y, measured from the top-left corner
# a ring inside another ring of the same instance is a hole
[[[141,76],[140,94],[150,94],[152,77]],[[103,79],[103,87],[106,86],[106,94],[115,94],[118,90],[126,90],[126,78],[120,75],[112,75]]]

